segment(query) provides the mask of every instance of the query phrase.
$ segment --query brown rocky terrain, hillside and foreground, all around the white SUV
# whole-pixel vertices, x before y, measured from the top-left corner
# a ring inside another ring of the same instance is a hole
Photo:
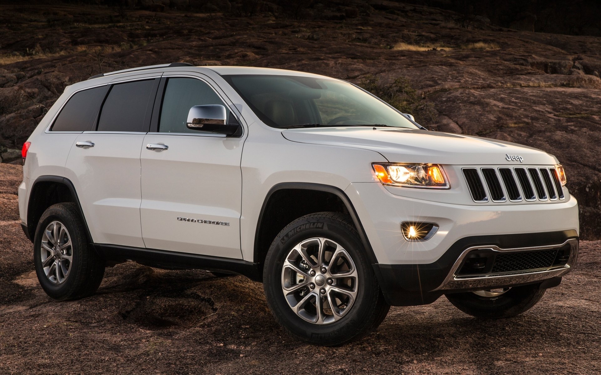
[[[18,163],[64,87],[100,72],[175,61],[304,70],[364,85],[429,128],[557,155],[584,238],[601,238],[601,38],[370,4],[349,0],[293,20],[3,3],[0,157]],[[600,241],[583,241],[575,271],[522,316],[477,320],[441,298],[392,308],[364,340],[321,348],[287,337],[261,285],[243,277],[124,263],[107,270],[96,295],[50,300],[19,227],[21,173],[0,164],[2,374],[601,373]]]

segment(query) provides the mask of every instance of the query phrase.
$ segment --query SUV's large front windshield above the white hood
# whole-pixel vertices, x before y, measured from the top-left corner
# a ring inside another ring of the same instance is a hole
[[[270,127],[418,128],[387,104],[347,82],[257,74],[223,77]]]

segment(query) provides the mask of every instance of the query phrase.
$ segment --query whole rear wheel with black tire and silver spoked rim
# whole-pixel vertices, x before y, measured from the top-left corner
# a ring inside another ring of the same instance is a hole
[[[54,299],[83,298],[100,286],[105,262],[89,247],[75,203],[50,206],[41,216],[34,265],[41,287]]]

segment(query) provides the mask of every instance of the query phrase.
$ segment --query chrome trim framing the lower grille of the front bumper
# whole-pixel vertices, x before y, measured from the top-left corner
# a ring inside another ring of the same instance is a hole
[[[494,275],[483,275],[479,277],[457,277],[456,272],[463,260],[473,250],[491,249],[498,251],[499,253],[507,253],[513,251],[534,251],[534,250],[546,250],[550,248],[560,248],[566,244],[570,244],[570,257],[566,262],[566,265],[555,266],[549,269],[535,269],[532,272],[518,271],[518,272],[507,272],[507,274],[494,274]],[[548,278],[562,276],[569,272],[573,265],[578,259],[578,239],[572,238],[566,240],[563,244],[559,245],[547,245],[547,246],[536,246],[536,247],[520,247],[520,248],[500,248],[496,245],[482,245],[472,246],[463,250],[459,258],[457,258],[451,271],[442,282],[442,284],[434,290],[451,290],[451,289],[477,289],[477,288],[490,288],[499,287],[506,284],[520,284],[528,283],[529,281],[546,280]]]

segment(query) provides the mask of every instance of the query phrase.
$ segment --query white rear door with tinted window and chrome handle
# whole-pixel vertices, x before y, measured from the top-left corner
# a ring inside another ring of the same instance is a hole
[[[150,126],[159,78],[109,85],[94,123],[76,139],[66,177],[99,244],[144,247],[140,226],[140,150]]]

